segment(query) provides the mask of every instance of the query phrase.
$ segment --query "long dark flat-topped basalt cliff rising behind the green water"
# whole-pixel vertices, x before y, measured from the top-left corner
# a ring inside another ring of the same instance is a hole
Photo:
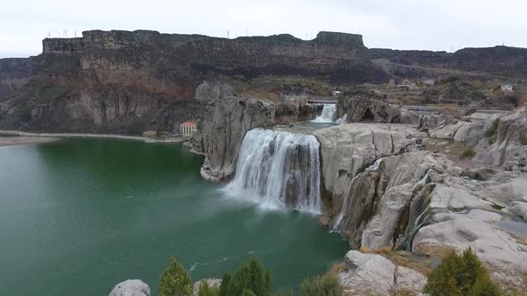
[[[202,101],[235,95],[230,81],[264,75],[339,84],[387,79],[372,65],[360,35],[321,32],[303,41],[290,35],[227,39],[85,31],[78,38],[44,39],[38,56],[0,59],[0,127],[117,134],[173,130],[185,120],[202,119]]]

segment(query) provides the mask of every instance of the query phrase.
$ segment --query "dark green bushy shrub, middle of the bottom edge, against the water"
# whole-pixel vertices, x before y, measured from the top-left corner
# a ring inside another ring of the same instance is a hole
[[[230,276],[223,275],[220,295],[256,295],[267,296],[272,292],[271,271],[263,269],[262,261],[252,258],[248,264],[238,268],[236,273]]]

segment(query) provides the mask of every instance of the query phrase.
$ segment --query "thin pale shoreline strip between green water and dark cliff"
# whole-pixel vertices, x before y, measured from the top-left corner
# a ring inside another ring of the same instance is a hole
[[[0,130],[0,136],[35,136],[47,138],[111,138],[121,140],[143,141],[145,143],[180,143],[187,141],[187,138],[177,137],[171,139],[153,139],[146,136],[122,136],[122,135],[105,135],[105,134],[80,134],[80,133],[29,133],[18,130]]]

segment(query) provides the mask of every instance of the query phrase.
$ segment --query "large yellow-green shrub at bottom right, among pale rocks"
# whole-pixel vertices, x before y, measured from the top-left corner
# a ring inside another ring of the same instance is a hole
[[[469,248],[458,256],[450,253],[428,276],[423,292],[439,295],[499,295],[499,288],[490,280],[487,269]]]

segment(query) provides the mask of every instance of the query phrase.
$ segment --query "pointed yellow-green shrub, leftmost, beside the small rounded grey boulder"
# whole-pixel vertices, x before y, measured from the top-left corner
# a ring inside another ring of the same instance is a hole
[[[159,277],[159,295],[192,295],[192,281],[188,276],[187,270],[173,257],[170,259],[168,267]]]

